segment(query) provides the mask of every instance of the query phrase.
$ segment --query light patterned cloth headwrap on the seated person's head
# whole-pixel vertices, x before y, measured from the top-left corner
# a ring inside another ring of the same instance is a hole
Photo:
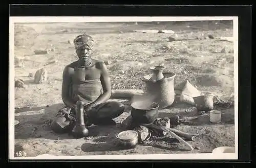
[[[74,45],[75,45],[76,50],[84,45],[89,47],[89,49],[93,50],[94,40],[93,40],[92,36],[87,35],[87,34],[82,34],[82,35],[77,36],[74,39]]]

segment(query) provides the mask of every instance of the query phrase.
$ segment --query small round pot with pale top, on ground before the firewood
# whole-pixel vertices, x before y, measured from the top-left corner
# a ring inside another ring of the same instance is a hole
[[[135,148],[138,144],[138,132],[133,130],[122,131],[115,134],[121,146],[124,148]]]

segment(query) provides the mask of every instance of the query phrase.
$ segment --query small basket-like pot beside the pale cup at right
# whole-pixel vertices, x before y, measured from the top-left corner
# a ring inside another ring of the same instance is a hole
[[[193,97],[195,106],[198,111],[211,111],[214,109],[214,95],[200,95],[198,97]]]

